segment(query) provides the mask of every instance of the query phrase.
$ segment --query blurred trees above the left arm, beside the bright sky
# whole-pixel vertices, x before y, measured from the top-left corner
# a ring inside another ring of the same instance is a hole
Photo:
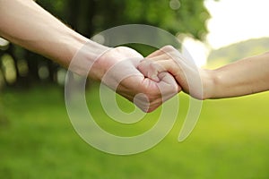
[[[38,0],[37,2],[64,21],[70,21],[65,13],[75,13],[77,17],[75,21],[82,24],[91,26],[93,21],[91,27],[94,29],[93,32],[121,24],[143,23],[169,30],[173,34],[186,33],[194,38],[203,39],[207,33],[205,22],[210,17],[204,7],[204,0]],[[75,5],[70,6],[72,4]],[[90,12],[92,16],[87,16],[85,12],[88,14]]]

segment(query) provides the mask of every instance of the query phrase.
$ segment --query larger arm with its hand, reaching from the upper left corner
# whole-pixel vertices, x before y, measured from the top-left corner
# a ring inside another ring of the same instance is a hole
[[[162,72],[158,82],[144,77],[137,70],[143,56],[134,49],[101,46],[71,30],[32,0],[0,0],[0,36],[47,56],[65,68],[69,67],[79,51],[82,58],[72,65],[71,70],[87,74],[97,81],[102,81],[113,66],[120,68],[123,65],[120,69],[125,69],[130,59],[134,60],[127,66],[128,71],[125,72],[128,76],[125,79],[121,79],[119,73],[112,72],[103,82],[128,100],[135,101],[144,112],[152,112],[181,90],[169,72]],[[85,50],[81,50],[82,47]],[[125,63],[121,63],[123,61]],[[92,64],[89,73],[85,64]],[[117,87],[112,81],[117,81]]]

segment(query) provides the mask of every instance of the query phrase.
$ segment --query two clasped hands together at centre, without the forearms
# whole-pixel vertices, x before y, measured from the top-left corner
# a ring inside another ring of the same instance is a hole
[[[104,69],[98,79],[144,112],[152,112],[181,90],[203,98],[197,86],[201,85],[199,72],[171,46],[146,58],[129,47],[116,47],[101,55],[94,65],[93,69]]]

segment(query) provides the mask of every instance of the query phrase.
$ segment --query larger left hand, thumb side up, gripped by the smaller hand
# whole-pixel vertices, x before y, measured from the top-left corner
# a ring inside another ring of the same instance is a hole
[[[92,69],[99,70],[99,80],[134,102],[144,112],[152,112],[181,88],[169,72],[160,72],[160,81],[152,81],[137,70],[143,56],[129,47],[111,48],[101,55]]]

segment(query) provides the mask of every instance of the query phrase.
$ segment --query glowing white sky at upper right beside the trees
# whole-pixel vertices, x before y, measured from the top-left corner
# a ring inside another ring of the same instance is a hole
[[[250,38],[269,37],[267,0],[206,0],[205,6],[212,16],[207,22],[206,44],[191,38],[183,41],[198,66],[205,64],[213,49]]]

